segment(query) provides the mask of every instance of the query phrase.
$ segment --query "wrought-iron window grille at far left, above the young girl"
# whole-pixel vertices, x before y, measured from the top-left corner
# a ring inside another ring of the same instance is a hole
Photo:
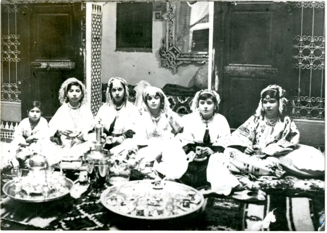
[[[20,102],[21,92],[17,87],[17,66],[20,62],[20,36],[17,34],[17,4],[4,4],[2,18],[8,16],[8,24],[2,25],[1,36],[1,101]],[[12,22],[15,22],[13,24]]]

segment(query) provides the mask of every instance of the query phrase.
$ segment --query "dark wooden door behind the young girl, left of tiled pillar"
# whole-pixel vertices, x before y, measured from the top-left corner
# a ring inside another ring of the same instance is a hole
[[[84,80],[82,3],[30,4],[30,75],[22,85],[22,119],[27,105],[41,101],[49,120],[60,107],[58,91],[70,77]],[[85,41],[84,41],[85,42]]]

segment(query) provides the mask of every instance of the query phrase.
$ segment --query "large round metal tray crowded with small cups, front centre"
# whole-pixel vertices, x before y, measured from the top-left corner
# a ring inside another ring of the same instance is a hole
[[[172,181],[129,181],[111,186],[100,197],[110,211],[129,218],[166,220],[198,212],[204,197],[196,189]]]

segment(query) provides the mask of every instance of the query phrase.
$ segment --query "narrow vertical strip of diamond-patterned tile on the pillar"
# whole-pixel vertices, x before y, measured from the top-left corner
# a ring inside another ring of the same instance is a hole
[[[101,40],[102,40],[102,10],[101,10],[101,6],[92,4],[91,110],[94,115],[96,115],[102,104]]]

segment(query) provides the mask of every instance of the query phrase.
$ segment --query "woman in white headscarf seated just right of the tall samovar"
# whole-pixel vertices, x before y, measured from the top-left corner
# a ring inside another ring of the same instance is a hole
[[[104,126],[105,149],[125,157],[132,147],[130,138],[139,132],[140,113],[136,106],[128,101],[129,91],[126,80],[111,78],[107,87],[107,102],[95,116],[95,122]]]

